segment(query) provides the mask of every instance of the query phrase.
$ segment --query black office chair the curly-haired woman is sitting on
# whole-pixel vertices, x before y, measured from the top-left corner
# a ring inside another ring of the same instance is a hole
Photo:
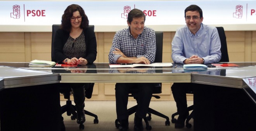
[[[57,62],[56,59],[55,59],[55,54],[54,54],[54,38],[55,38],[55,34],[56,34],[56,31],[60,28],[61,25],[57,25],[57,24],[54,24],[52,25],[52,61],[54,62]],[[94,25],[89,25],[90,29],[94,30]],[[85,90],[86,89],[93,89],[93,86],[94,86],[94,83],[87,83],[86,84],[87,86],[85,87]],[[75,120],[76,119],[76,106],[72,105],[72,101],[70,100],[70,95],[72,94],[72,91],[71,91],[71,87],[60,87],[60,93],[64,95],[64,98],[67,99],[66,101],[66,105],[62,106],[61,107],[61,113],[65,113],[67,112],[67,116],[71,116],[71,119],[72,120]],[[92,97],[92,94],[86,94],[86,97],[89,99],[90,97]],[[93,116],[95,119],[93,120],[93,123],[96,124],[96,123],[99,123],[99,119],[98,119],[98,116],[96,114],[93,114],[93,113],[90,113],[86,110],[85,111],[85,114],[86,115],[89,115],[89,116]],[[72,114],[72,115],[71,115]],[[79,125],[79,128],[80,129],[84,129],[84,125],[83,124],[80,124]]]

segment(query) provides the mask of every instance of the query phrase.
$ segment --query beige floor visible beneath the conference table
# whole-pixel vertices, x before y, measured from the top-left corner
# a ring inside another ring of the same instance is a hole
[[[61,105],[66,104],[66,101],[61,101]],[[136,104],[135,101],[129,101],[128,107],[132,107]],[[192,105],[193,101],[188,101],[188,106]],[[171,114],[176,112],[175,101],[151,101],[150,107],[159,111],[169,117],[171,123]],[[118,131],[115,127],[114,121],[116,120],[116,102],[115,101],[85,101],[85,109],[94,114],[97,114],[99,123],[93,123],[93,117],[85,116],[86,121],[84,123],[85,129],[83,131]],[[76,120],[71,120],[70,116],[66,113],[62,114],[64,117],[64,124],[66,126],[66,131],[81,131],[79,129],[79,124]],[[134,114],[129,117],[129,129],[133,131],[133,118]],[[174,124],[171,123],[170,126],[165,126],[165,119],[158,116],[152,115],[152,120],[149,121],[150,126],[152,126],[151,131],[193,131],[193,119],[190,120],[192,128],[175,129]],[[144,123],[145,128],[145,123]],[[146,131],[146,129],[144,129]]]

